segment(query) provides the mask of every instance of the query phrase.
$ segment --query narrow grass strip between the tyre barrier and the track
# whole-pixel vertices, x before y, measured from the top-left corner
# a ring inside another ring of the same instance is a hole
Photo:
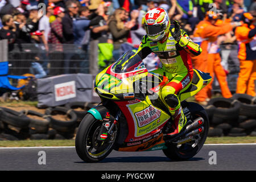
[[[208,137],[205,144],[256,143],[256,137]],[[75,146],[75,140],[3,140],[0,147],[61,147]]]

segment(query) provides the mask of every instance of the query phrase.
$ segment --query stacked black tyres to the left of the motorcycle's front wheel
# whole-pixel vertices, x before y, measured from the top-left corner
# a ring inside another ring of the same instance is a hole
[[[73,110],[81,106],[79,111]],[[34,110],[15,111],[0,107],[0,140],[72,139],[91,107],[94,105],[74,102],[63,107],[48,107],[44,114]]]

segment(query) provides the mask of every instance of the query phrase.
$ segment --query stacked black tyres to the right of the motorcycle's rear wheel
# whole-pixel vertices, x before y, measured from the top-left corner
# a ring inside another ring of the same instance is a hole
[[[205,110],[209,115],[209,137],[256,135],[256,97],[234,94],[232,98],[212,98]]]

